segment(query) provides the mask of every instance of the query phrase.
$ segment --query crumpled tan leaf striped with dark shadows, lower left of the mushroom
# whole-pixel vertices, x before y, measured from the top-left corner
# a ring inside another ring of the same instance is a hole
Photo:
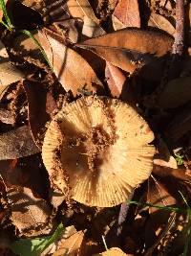
[[[19,230],[19,233],[39,235],[41,231],[37,227],[44,227],[49,221],[51,210],[47,202],[42,198],[34,197],[32,190],[22,187],[7,187],[7,197],[11,202],[11,220]],[[47,232],[50,230],[48,229]],[[45,230],[43,230],[45,233]]]

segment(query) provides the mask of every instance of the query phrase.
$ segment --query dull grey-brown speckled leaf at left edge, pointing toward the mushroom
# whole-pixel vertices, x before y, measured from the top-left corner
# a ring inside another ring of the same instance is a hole
[[[39,151],[28,126],[14,128],[0,135],[0,160],[15,159]]]

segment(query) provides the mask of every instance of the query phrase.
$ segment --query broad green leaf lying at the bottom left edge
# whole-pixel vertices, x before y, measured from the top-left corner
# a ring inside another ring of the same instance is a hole
[[[63,230],[64,226],[60,223],[53,235],[35,239],[20,239],[11,244],[11,250],[20,256],[39,256],[62,235]]]

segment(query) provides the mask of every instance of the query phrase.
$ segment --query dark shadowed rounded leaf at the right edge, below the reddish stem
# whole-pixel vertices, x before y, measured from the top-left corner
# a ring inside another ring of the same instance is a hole
[[[158,105],[161,108],[176,108],[191,100],[191,77],[182,77],[169,81],[159,94]]]

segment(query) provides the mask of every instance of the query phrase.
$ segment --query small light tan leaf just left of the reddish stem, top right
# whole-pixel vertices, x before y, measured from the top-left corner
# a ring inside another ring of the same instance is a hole
[[[170,35],[175,35],[175,28],[173,25],[162,15],[152,12],[148,21],[148,25],[151,27],[159,28],[167,32]]]

